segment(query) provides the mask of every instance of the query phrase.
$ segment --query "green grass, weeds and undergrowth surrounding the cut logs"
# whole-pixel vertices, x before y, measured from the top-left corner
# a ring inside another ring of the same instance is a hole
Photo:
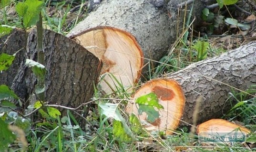
[[[223,1],[216,0],[219,4]],[[243,6],[242,3],[243,0],[235,0],[235,2],[233,0],[231,5],[226,5],[222,9],[218,7],[214,9],[205,8],[202,11],[203,26],[185,31],[187,34],[184,34],[182,38],[177,38],[175,51],[171,57],[164,56],[157,67],[150,69],[146,79],[149,80],[164,73],[176,72],[193,62],[217,56],[253,40],[255,35],[252,35],[256,33],[254,27],[255,16],[253,15],[256,12],[256,2],[246,0],[246,4],[254,8],[250,12],[239,7]],[[14,27],[26,31],[33,28],[40,18],[33,15],[40,14],[40,12],[43,28],[66,35],[79,21],[86,17],[87,13],[97,9],[98,5],[100,5],[100,1],[96,2],[96,0],[46,0],[40,2],[26,0],[23,3],[19,0],[1,0],[0,37],[8,34],[8,32],[10,33]],[[237,7],[241,9],[240,14],[232,14],[234,12],[232,10],[236,10]],[[32,13],[26,16],[26,11],[30,9]],[[249,17],[253,18],[249,21],[249,24],[242,22]],[[239,25],[237,25],[237,22],[239,22]],[[232,26],[239,28],[231,28]],[[201,38],[197,36],[190,37],[189,33],[197,33],[198,31],[205,33],[205,35]],[[234,41],[236,43],[233,43]],[[205,45],[202,45],[202,43],[205,43]],[[14,56],[6,57],[3,54],[0,56],[0,70],[2,71],[5,70],[4,67],[6,66],[4,61],[10,61],[10,58]],[[40,73],[43,69],[38,63],[31,63],[31,66],[36,68],[35,73]],[[19,100],[19,97],[5,85],[0,85],[0,151],[250,152],[256,150],[256,97],[254,96],[236,90],[230,92],[229,98],[226,100],[227,102],[235,100],[236,104],[222,117],[225,120],[236,121],[245,125],[252,131],[246,138],[246,142],[243,144],[215,143],[212,145],[200,143],[198,137],[191,134],[189,127],[186,126],[179,128],[176,134],[170,136],[165,136],[162,132],[150,134],[143,130],[136,118],[129,118],[123,112],[125,105],[130,100],[130,94],[126,93],[125,90],[117,90],[114,96],[105,96],[98,90],[98,86],[95,86],[94,96],[90,101],[92,104],[89,108],[89,115],[83,117],[80,111],[74,109],[67,110],[66,114],[61,114],[58,108],[45,106],[41,101],[17,110],[17,105],[10,101]],[[251,95],[256,95],[256,84],[248,86],[245,91]],[[37,109],[41,117],[40,121],[31,121],[30,114],[27,113],[30,108]],[[85,125],[80,125],[77,121],[74,116],[77,114],[81,115],[86,122]],[[110,114],[113,114],[114,119],[108,116]],[[115,121],[117,118],[120,118],[120,121]],[[129,133],[132,133],[133,136],[129,136]]]

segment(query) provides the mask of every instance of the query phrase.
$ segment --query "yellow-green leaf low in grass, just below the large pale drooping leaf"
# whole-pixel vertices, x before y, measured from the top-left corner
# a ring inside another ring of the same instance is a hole
[[[113,121],[113,134],[120,140],[120,142],[132,142],[132,138],[126,133],[123,123],[120,121]]]

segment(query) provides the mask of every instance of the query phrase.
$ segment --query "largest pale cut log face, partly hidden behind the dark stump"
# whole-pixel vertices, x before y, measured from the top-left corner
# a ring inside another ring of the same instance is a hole
[[[103,81],[100,85],[105,93],[116,90],[119,83],[123,85],[120,87],[127,89],[138,82],[143,67],[143,53],[130,33],[104,26],[85,30],[71,38],[102,59]]]

